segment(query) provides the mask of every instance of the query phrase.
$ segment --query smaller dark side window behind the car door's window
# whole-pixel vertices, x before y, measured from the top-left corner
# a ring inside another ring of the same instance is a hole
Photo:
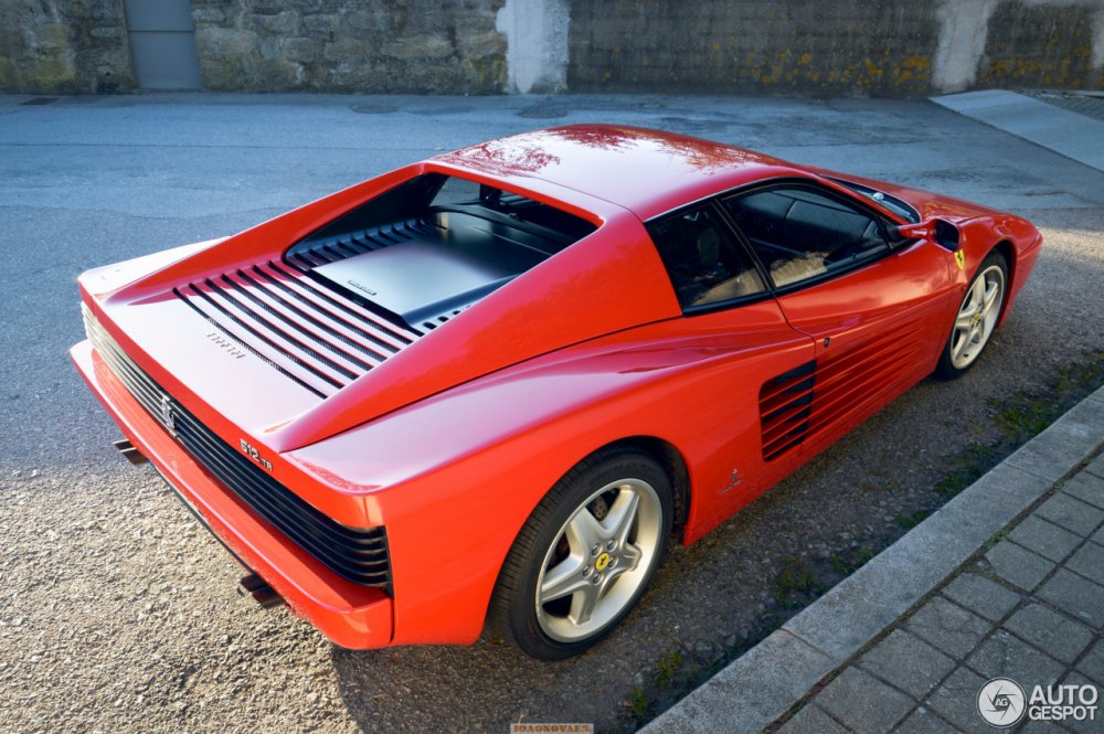
[[[682,308],[753,296],[765,288],[743,249],[724,234],[709,206],[648,225]]]

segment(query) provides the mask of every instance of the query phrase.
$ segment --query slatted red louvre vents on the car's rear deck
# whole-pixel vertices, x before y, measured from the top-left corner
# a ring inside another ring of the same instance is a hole
[[[173,292],[221,334],[319,397],[332,395],[421,336],[275,260]]]

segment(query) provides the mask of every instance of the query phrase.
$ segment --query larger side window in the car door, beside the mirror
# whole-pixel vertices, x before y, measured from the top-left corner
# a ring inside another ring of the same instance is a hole
[[[874,217],[807,189],[757,191],[723,203],[779,288],[847,269],[889,249]]]

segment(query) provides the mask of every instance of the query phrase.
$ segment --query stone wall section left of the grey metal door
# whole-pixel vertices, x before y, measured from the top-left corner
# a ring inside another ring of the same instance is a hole
[[[0,91],[134,88],[123,0],[0,0]]]

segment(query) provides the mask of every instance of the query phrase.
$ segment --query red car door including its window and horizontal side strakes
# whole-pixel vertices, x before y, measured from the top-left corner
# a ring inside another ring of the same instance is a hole
[[[953,257],[930,242],[891,246],[873,210],[811,183],[784,183],[722,201],[757,255],[790,326],[816,343],[804,390],[775,398],[764,454],[825,448],[928,375],[959,294]],[[777,386],[764,385],[764,395]],[[786,409],[789,401],[788,409]]]

